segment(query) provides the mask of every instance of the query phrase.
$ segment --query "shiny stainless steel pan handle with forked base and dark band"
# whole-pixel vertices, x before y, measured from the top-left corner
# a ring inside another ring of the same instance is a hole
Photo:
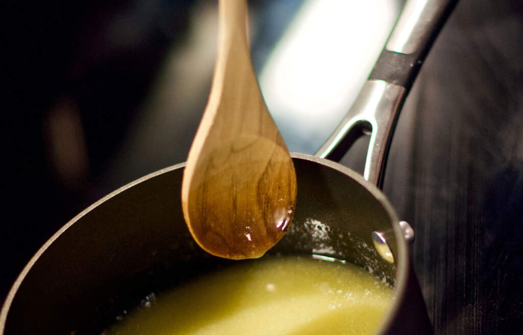
[[[382,187],[392,134],[405,97],[457,2],[407,0],[369,79],[316,156],[339,161],[360,136],[370,133],[363,177]]]

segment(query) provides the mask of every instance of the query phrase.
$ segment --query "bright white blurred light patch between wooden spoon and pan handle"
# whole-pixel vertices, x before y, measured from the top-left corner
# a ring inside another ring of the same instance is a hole
[[[289,150],[314,153],[367,79],[401,2],[306,1],[259,74]]]

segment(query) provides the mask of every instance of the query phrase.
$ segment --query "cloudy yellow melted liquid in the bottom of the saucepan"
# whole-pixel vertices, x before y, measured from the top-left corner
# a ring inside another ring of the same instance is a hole
[[[391,299],[351,264],[260,259],[158,295],[103,334],[372,334]]]

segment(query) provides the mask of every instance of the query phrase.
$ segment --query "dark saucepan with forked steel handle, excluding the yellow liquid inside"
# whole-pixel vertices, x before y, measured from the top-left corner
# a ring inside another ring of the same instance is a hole
[[[344,260],[394,285],[380,334],[432,332],[409,258],[413,231],[397,218],[380,186],[402,103],[455,3],[407,1],[369,80],[331,138],[314,156],[292,154],[296,211],[286,236],[269,251]],[[361,176],[334,161],[367,131]],[[235,264],[192,240],[181,211],[183,170],[181,163],[123,186],[56,232],[8,293],[0,334],[100,333],[147,294]]]

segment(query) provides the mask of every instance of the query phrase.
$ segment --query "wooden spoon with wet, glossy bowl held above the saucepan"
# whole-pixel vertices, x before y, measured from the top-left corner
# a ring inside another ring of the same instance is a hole
[[[185,221],[207,252],[258,258],[289,228],[296,190],[251,63],[246,2],[222,0],[212,89],[181,187]]]

